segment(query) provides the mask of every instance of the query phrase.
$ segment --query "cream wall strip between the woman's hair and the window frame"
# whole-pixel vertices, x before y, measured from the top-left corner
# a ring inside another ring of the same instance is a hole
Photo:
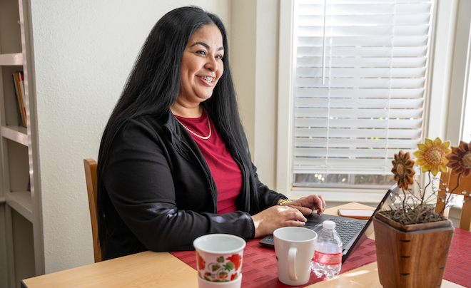
[[[233,0],[231,13],[240,115],[258,177],[276,190],[279,1]]]

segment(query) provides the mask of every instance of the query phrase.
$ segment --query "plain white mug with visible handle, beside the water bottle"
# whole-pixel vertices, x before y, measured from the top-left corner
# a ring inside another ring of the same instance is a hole
[[[278,279],[287,285],[303,285],[310,277],[318,234],[303,227],[283,227],[273,232]]]

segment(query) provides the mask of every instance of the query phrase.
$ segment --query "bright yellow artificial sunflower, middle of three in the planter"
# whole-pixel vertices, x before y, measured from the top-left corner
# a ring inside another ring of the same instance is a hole
[[[417,146],[419,150],[414,152],[417,157],[415,163],[420,165],[422,172],[430,171],[434,176],[437,176],[439,171],[447,172],[448,160],[445,155],[451,152],[450,141],[442,143],[438,137],[433,141],[425,138],[425,143],[419,143]]]

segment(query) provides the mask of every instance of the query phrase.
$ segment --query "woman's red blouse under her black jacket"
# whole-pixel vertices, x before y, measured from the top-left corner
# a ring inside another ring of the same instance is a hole
[[[195,140],[198,148],[208,163],[211,176],[213,176],[216,187],[218,187],[218,214],[228,212],[236,212],[236,197],[242,188],[242,174],[236,161],[231,156],[231,153],[226,149],[219,135],[214,127],[213,121],[209,118],[206,110],[200,118],[183,118],[175,116],[187,129],[194,133],[207,137],[209,135],[208,119],[211,124],[211,137],[202,139],[193,133],[189,132],[193,140]]]

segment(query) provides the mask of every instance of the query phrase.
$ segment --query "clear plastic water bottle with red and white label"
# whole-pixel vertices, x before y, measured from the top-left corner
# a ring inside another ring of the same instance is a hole
[[[342,240],[335,231],[335,222],[324,221],[322,225],[311,267],[317,277],[325,275],[329,279],[338,275],[342,267]]]

